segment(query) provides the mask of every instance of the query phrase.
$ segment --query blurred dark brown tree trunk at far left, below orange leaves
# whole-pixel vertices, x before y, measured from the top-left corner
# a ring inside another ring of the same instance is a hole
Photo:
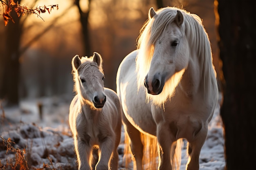
[[[14,0],[17,3],[17,0]],[[19,3],[21,0],[19,1]],[[7,100],[8,104],[18,104],[18,84],[20,77],[20,37],[21,37],[21,26],[20,18],[14,10],[11,12],[11,16],[15,23],[9,21],[7,24],[7,35],[6,35],[6,55],[0,57],[2,66],[2,76],[0,77],[0,98]]]

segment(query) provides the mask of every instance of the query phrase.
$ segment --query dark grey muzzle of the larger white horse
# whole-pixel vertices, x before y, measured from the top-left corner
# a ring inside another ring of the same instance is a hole
[[[144,86],[147,88],[148,94],[150,95],[159,95],[163,91],[164,83],[165,79],[160,77],[159,74],[154,75],[151,84],[148,83],[148,75],[146,75],[144,79]]]

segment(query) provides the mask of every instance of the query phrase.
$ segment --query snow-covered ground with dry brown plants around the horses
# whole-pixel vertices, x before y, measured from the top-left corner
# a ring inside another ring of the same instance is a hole
[[[22,100],[19,107],[4,108],[4,113],[0,109],[0,136],[4,139],[10,137],[16,143],[15,148],[26,148],[28,163],[34,169],[43,168],[43,164],[50,165],[45,168],[49,170],[77,169],[73,139],[68,125],[70,101],[71,99],[65,96],[27,99]],[[40,105],[43,106],[43,119],[40,119]],[[209,124],[207,140],[201,150],[200,170],[224,170],[224,139],[219,113],[218,105]],[[6,149],[3,142],[0,142],[0,160],[3,165],[15,158],[15,155],[7,153]],[[124,168],[123,151],[124,132],[118,148],[119,169],[127,170],[128,168]],[[181,170],[185,170],[186,161],[184,147]]]

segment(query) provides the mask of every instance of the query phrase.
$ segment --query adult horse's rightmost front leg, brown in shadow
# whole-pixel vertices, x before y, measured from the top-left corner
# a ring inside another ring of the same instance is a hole
[[[188,145],[188,154],[189,154],[189,161],[187,163],[187,170],[199,170],[199,155],[204,145],[204,141],[207,137],[208,127],[203,127],[200,132],[198,132],[193,141],[189,141]]]

